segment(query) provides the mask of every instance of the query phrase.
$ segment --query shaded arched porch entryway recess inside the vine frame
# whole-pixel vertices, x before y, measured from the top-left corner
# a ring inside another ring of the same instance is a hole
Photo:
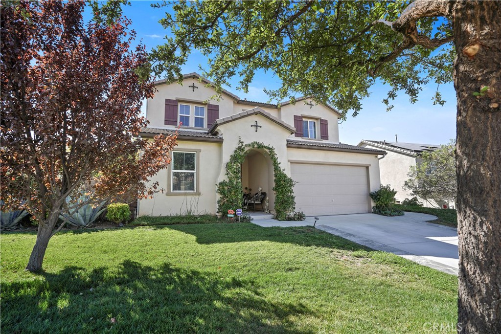
[[[268,151],[253,148],[246,152],[245,159],[241,164],[241,182],[242,190],[245,191],[245,187],[247,187],[248,189],[252,189],[252,194],[255,194],[259,187],[262,187],[262,191],[266,192],[269,198],[269,210],[274,211],[274,171]],[[261,205],[258,207],[261,209]]]

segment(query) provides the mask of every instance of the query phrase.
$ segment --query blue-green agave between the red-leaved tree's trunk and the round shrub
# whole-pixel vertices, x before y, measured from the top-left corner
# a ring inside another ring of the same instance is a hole
[[[93,206],[92,204],[88,203],[89,199],[89,196],[82,195],[75,201],[70,196],[68,196],[66,198],[66,203],[70,207],[76,207],[70,208],[68,213],[63,213],[59,217],[63,220],[67,220],[68,224],[73,226],[89,226],[106,209],[106,207],[104,206],[104,204],[106,203],[105,201]]]

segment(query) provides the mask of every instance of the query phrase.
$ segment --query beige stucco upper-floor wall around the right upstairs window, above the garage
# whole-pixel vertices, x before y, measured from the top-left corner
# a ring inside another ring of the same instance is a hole
[[[305,105],[305,101],[313,103],[313,107]],[[288,104],[281,108],[282,120],[294,127],[294,115],[302,115],[303,117],[311,116],[312,118],[323,118],[328,121],[329,142],[339,143],[339,128],[337,115],[329,108],[319,104],[315,105],[315,101],[311,99],[296,102],[295,105]],[[320,133],[320,125],[317,125],[317,131]],[[294,137],[294,134],[291,136]],[[320,136],[319,136],[320,138]]]

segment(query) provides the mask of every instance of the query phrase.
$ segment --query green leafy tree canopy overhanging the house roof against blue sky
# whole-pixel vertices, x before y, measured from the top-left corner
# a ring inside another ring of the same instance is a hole
[[[411,102],[421,88],[451,81],[454,52],[450,24],[438,18],[420,21],[420,34],[432,39],[418,45],[385,24],[398,18],[405,2],[176,2],[175,15],[161,23],[172,30],[166,45],[153,51],[156,73],[180,77],[180,66],[193,49],[209,58],[205,75],[216,86],[238,75],[247,91],[257,69],[275,73],[283,85],[268,91],[283,100],[298,92],[315,96],[343,112],[357,114],[360,101],[379,78],[391,86],[385,103],[404,90]],[[177,53],[176,53],[177,51]],[[402,51],[404,51],[402,53]],[[394,62],[398,57],[399,62]],[[335,71],[333,69],[335,68]],[[429,75],[423,77],[422,73]],[[443,103],[438,95],[436,102]]]

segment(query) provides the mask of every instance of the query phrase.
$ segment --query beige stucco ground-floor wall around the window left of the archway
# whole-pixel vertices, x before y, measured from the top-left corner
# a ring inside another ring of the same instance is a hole
[[[143,199],[139,202],[139,215],[165,216],[185,214],[192,210],[195,214],[216,213],[216,182],[221,169],[221,143],[178,141],[175,151],[199,150],[198,161],[198,190],[200,195],[191,193],[168,195],[157,193],[152,199]],[[152,179],[158,181],[160,187],[168,189],[170,175],[167,169],[161,170]]]

